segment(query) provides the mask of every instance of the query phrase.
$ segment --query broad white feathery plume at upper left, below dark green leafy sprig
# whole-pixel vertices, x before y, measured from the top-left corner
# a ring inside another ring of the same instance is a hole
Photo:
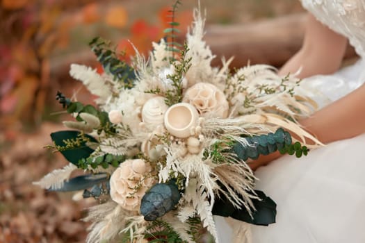
[[[70,75],[88,87],[88,90],[99,97],[99,101],[104,102],[111,95],[111,90],[106,85],[102,76],[97,74],[96,69],[85,65],[72,64]]]

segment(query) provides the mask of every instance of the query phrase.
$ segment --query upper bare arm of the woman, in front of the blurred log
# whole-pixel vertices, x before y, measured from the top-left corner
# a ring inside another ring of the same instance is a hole
[[[332,74],[341,66],[347,40],[342,35],[308,15],[302,48],[280,69],[279,74],[293,74],[302,67],[300,78]]]

